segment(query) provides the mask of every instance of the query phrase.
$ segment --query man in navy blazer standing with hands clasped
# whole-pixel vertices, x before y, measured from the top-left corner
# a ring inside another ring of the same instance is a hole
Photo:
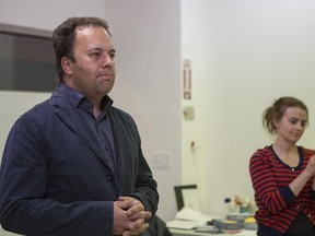
[[[113,107],[107,23],[71,17],[54,31],[59,85],[12,127],[0,169],[0,220],[23,235],[138,235],[156,182],[133,119]]]

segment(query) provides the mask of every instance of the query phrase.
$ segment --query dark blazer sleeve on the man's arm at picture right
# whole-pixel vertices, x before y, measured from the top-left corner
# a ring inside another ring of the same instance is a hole
[[[122,192],[139,199],[145,210],[154,214],[159,203],[158,184],[143,156],[137,125],[129,114],[118,108],[113,108],[110,116],[118,160],[126,166]]]

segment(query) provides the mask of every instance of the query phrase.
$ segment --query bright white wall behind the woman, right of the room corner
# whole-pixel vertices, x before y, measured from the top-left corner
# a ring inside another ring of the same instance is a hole
[[[202,109],[205,143],[200,138],[197,157],[185,153],[183,181],[195,179],[194,174],[187,175],[188,166],[196,165],[195,160],[201,163],[202,204],[208,213],[222,215],[225,197],[254,198],[248,160],[272,141],[262,130],[261,114],[275,98],[293,95],[308,105],[311,126],[300,143],[315,148],[315,2],[182,2],[183,19],[187,17],[183,42],[191,42],[183,51],[194,66],[202,67],[202,73],[206,70],[202,79],[192,72],[195,94],[200,88],[205,99],[194,101],[196,109]],[[194,19],[195,28],[187,26],[188,19]],[[191,126],[196,128],[199,132],[198,125]]]

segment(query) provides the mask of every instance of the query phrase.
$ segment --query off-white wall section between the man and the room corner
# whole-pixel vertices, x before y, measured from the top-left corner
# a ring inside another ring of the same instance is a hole
[[[106,19],[117,48],[114,105],[132,114],[143,153],[158,180],[158,214],[176,213],[173,187],[180,185],[180,15],[179,0],[108,0]],[[171,168],[154,165],[155,154],[171,157]]]

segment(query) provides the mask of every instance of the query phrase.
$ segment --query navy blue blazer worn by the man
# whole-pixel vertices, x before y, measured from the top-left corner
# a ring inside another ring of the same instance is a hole
[[[0,169],[4,229],[23,235],[109,236],[113,201],[119,196],[136,197],[145,210],[156,212],[156,182],[142,155],[137,126],[113,106],[108,115],[118,173],[110,169],[62,86],[16,120]]]

